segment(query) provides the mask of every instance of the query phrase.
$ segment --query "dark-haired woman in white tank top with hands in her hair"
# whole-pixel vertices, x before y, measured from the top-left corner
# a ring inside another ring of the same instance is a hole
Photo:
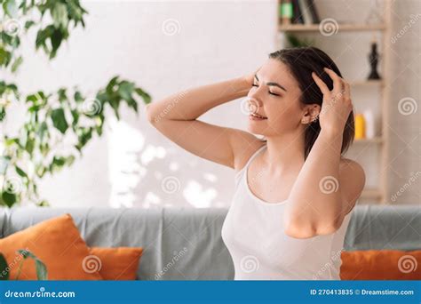
[[[249,132],[197,120],[246,95]],[[256,73],[171,95],[147,116],[180,147],[236,172],[222,227],[235,280],[340,279],[365,174],[342,157],[353,142],[350,85],[325,52],[273,52]]]

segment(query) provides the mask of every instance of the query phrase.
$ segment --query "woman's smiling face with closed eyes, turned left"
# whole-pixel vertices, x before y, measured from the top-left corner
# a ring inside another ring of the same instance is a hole
[[[287,66],[279,60],[267,60],[247,95],[249,110],[255,113],[249,116],[249,132],[268,137],[297,131],[304,115],[300,95],[298,82]]]

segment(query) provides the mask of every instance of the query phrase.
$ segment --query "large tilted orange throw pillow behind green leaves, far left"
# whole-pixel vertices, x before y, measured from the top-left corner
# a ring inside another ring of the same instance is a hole
[[[101,280],[98,271],[86,268],[89,247],[84,243],[70,214],[44,220],[0,239],[0,252],[9,264],[10,279],[16,279],[20,260],[18,250],[28,250],[42,260],[49,280]],[[24,260],[19,280],[36,280],[32,259]]]

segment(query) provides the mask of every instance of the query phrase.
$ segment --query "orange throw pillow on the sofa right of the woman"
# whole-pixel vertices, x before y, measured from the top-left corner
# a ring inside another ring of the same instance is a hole
[[[341,253],[342,280],[419,280],[421,250],[368,250]]]

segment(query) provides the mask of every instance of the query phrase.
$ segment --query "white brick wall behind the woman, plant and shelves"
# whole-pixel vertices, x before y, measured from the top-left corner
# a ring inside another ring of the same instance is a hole
[[[362,18],[367,2],[320,1],[321,14],[338,19]],[[26,61],[16,78],[26,92],[55,90],[80,84],[87,94],[95,92],[112,76],[131,79],[159,100],[173,92],[241,76],[257,68],[267,53],[276,49],[276,1],[85,1],[90,12],[87,27],[76,29],[56,60],[49,63],[33,53],[33,41],[25,42]],[[346,10],[344,10],[346,8]],[[399,24],[419,12],[416,0],[395,3]],[[343,17],[340,17],[342,13]],[[179,32],[163,33],[165,20],[177,20]],[[362,21],[363,19],[361,19]],[[411,96],[419,102],[419,22],[393,45],[393,104]],[[354,37],[355,38],[355,37]],[[336,40],[335,40],[336,39]],[[371,36],[356,40],[338,36],[322,49],[338,58],[348,77],[365,76]],[[334,43],[332,43],[332,41]],[[30,45],[29,45],[30,43]],[[353,43],[352,49],[346,43]],[[346,52],[344,52],[344,50]],[[354,64],[358,58],[361,64]],[[400,74],[401,73],[401,74]],[[365,96],[364,92],[355,92]],[[375,99],[376,96],[373,97]],[[245,117],[239,100],[212,109],[203,119],[242,128]],[[143,108],[140,107],[142,112]],[[399,190],[410,172],[419,171],[419,110],[416,115],[391,117],[393,126],[391,192]],[[10,124],[10,123],[9,123]],[[139,116],[125,111],[123,121],[112,122],[105,136],[92,140],[83,159],[71,169],[46,178],[41,193],[55,206],[227,206],[234,187],[234,173],[180,149]],[[413,140],[416,136],[417,140]],[[405,147],[401,140],[411,142]],[[411,141],[413,140],[413,141]],[[400,154],[401,153],[401,154]],[[373,161],[375,152],[369,152]],[[361,156],[370,159],[369,156]],[[376,183],[377,168],[369,167],[369,183]],[[170,179],[168,179],[170,177]],[[171,180],[174,177],[176,180]],[[167,179],[165,179],[167,178]],[[163,180],[179,188],[163,191]],[[172,181],[175,181],[172,183]],[[399,198],[399,204],[419,202],[419,180]],[[392,195],[391,193],[390,195]]]

